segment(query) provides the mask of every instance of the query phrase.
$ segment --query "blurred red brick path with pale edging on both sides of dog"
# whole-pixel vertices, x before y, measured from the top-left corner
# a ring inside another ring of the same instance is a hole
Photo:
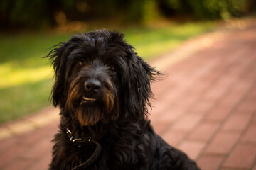
[[[256,170],[256,26],[208,33],[151,63],[166,73],[153,84],[156,132],[201,169]],[[1,170],[47,169],[58,130],[47,111],[1,125]]]

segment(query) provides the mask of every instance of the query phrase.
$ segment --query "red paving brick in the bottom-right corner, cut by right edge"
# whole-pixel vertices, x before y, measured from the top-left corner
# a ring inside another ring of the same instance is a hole
[[[256,159],[256,146],[238,145],[223,164],[224,167],[250,169]]]

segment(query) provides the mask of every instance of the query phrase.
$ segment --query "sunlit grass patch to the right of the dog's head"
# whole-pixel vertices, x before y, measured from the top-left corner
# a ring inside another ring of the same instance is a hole
[[[125,39],[132,44],[139,56],[146,60],[169,52],[181,42],[210,30],[213,23],[186,23],[162,28],[135,28],[124,31]]]

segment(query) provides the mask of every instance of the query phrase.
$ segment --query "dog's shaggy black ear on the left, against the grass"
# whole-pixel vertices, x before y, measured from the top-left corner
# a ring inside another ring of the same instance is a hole
[[[62,101],[64,99],[64,89],[65,89],[65,43],[60,43],[53,46],[53,50],[46,57],[50,57],[53,64],[53,70],[55,74],[55,82],[53,84],[53,89],[51,92],[51,99],[53,106],[60,105],[62,108]]]

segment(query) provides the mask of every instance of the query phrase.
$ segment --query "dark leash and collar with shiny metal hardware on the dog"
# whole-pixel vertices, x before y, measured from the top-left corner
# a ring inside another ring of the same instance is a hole
[[[92,140],[90,137],[87,137],[87,138],[84,138],[84,139],[74,137],[72,135],[72,132],[68,128],[66,130],[66,133],[67,133],[68,137],[70,138],[70,141],[73,142],[73,144],[76,145],[77,147],[81,147],[82,145],[85,145],[85,143],[87,143],[87,142],[92,142],[96,145],[95,152],[93,152],[92,156],[89,159],[87,159],[86,162],[84,162],[84,163],[82,163],[78,166],[75,166],[72,170],[84,170],[84,169],[86,169],[88,166],[90,166],[90,164],[95,162],[95,160],[99,157],[101,149],[102,149],[100,143],[95,141],[95,140]]]

